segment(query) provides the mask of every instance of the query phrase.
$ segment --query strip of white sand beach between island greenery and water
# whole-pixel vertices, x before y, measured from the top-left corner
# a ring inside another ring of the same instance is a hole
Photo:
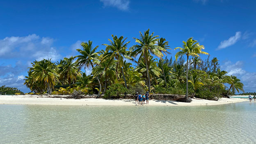
[[[238,103],[248,101],[240,98],[221,98],[218,101],[209,101],[205,99],[192,99],[191,103],[178,101],[160,101],[149,100],[149,106],[206,106],[219,105],[227,103]],[[89,106],[135,106],[133,99],[65,99],[48,98],[35,95],[0,95],[0,104],[18,104],[18,105],[89,105]],[[146,105],[148,106],[148,105]]]

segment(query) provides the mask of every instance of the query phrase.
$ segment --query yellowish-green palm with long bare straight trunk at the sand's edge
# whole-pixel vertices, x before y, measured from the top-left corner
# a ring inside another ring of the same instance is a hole
[[[187,72],[186,72],[186,99],[188,99],[188,79],[187,79],[187,75],[188,75],[188,59],[189,56],[199,56],[199,54],[208,54],[207,52],[203,52],[202,49],[204,49],[203,45],[199,45],[199,43],[197,43],[196,40],[193,40],[193,38],[188,38],[187,42],[183,41],[183,48],[182,47],[176,47],[174,50],[176,49],[180,49],[181,51],[177,52],[175,54],[175,58],[176,61],[178,59],[179,56],[183,56],[184,54],[187,56]]]

